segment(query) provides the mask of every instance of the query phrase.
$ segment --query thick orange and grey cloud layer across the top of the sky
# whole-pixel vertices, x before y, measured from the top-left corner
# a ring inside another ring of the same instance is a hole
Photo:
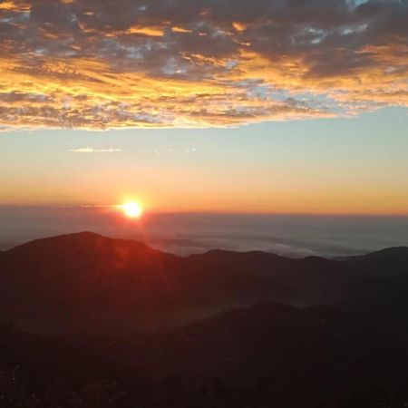
[[[405,0],[0,1],[0,126],[208,127],[408,105]]]

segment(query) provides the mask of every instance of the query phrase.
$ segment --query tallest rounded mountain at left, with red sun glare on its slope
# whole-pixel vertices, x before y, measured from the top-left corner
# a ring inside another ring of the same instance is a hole
[[[291,294],[283,284],[234,267],[220,270],[88,232],[6,251],[0,284],[1,318],[56,332],[138,332]]]

